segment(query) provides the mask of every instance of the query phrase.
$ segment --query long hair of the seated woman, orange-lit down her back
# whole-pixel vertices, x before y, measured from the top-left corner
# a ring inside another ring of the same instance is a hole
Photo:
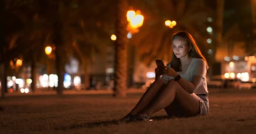
[[[187,40],[187,44],[191,48],[189,50],[189,56],[193,57],[193,58],[203,59],[206,62],[206,69],[209,68],[205,57],[201,53],[200,49],[198,48],[198,46],[195,42],[195,39],[192,37],[192,35],[190,33],[188,33],[187,31],[179,31],[179,32],[177,32],[173,35],[172,41],[174,39],[176,39],[176,37],[184,37]],[[181,69],[181,60],[179,58],[177,58],[176,55],[173,52],[172,52],[172,58],[171,58],[171,67],[176,72],[182,71],[182,69]]]

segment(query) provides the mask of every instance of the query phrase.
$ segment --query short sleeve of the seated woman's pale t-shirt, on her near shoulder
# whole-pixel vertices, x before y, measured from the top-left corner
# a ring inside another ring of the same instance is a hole
[[[194,75],[198,75],[205,79],[206,77],[206,62],[203,59],[199,59],[195,67]]]

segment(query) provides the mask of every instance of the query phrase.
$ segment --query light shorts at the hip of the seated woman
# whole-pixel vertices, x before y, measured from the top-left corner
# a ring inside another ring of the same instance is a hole
[[[209,112],[208,93],[206,95],[197,95],[200,101],[200,115],[206,115]]]

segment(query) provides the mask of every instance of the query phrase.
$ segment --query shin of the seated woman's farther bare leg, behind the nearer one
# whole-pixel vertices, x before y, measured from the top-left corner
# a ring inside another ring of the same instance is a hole
[[[155,80],[155,82],[153,82],[152,85],[147,89],[147,91],[142,95],[141,99],[130,113],[132,115],[139,114],[140,111],[149,104],[149,102],[154,98],[159,89],[162,88],[164,85],[165,83],[163,82],[163,80]]]

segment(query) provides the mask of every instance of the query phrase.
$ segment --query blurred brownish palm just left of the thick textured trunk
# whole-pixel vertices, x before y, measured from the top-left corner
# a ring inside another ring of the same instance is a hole
[[[85,88],[89,85],[88,67],[93,62],[94,53],[103,55],[106,47],[112,44],[109,31],[112,29],[113,10],[109,4],[114,1],[76,1],[70,3],[72,8],[66,7],[64,17],[69,18],[64,22],[64,39],[66,44],[71,44],[69,51],[72,56],[80,60],[84,72]],[[90,12],[84,9],[90,10]],[[64,20],[64,19],[62,19]]]

